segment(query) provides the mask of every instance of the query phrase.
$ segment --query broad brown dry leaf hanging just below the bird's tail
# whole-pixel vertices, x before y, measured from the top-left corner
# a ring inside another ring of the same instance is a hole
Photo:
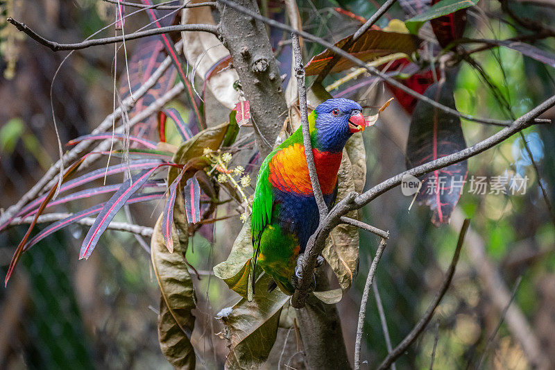
[[[280,289],[266,290],[270,280],[264,274],[257,281],[253,301],[242,298],[230,314],[221,317],[230,344],[225,369],[259,369],[266,362],[278,333],[282,307],[289,300]]]

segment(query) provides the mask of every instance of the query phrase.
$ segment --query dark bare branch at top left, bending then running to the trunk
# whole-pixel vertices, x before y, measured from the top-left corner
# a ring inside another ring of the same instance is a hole
[[[97,45],[113,44],[114,42],[120,42],[120,41],[123,41],[124,37],[125,37],[125,40],[128,41],[128,40],[135,40],[146,36],[160,35],[161,33],[169,33],[169,32],[203,31],[203,32],[213,33],[216,36],[219,35],[218,27],[214,26],[213,24],[178,24],[176,26],[153,28],[151,30],[129,33],[125,36],[119,35],[115,37],[92,39],[92,40],[86,40],[83,42],[77,42],[75,44],[60,44],[59,42],[46,40],[44,37],[42,37],[35,31],[33,31],[31,28],[29,28],[26,24],[17,22],[12,17],[8,17],[7,21],[13,24],[18,31],[22,31],[26,33],[33,40],[35,40],[39,44],[44,45],[45,47],[49,47],[53,51],[79,50],[79,49],[85,49],[87,47],[94,47]]]

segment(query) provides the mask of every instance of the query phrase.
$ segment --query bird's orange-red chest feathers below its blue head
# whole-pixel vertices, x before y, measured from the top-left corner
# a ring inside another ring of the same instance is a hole
[[[341,165],[340,153],[326,153],[312,149],[314,165],[323,194],[331,194],[337,182],[337,171]],[[305,146],[293,144],[275,153],[269,163],[268,180],[282,192],[295,192],[303,195],[312,194],[312,185],[308,174]]]

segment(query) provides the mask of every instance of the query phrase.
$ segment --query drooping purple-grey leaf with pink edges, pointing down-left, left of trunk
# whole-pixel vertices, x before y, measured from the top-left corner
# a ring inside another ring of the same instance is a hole
[[[141,173],[133,176],[131,180],[125,180],[119,187],[119,190],[112,195],[112,198],[108,200],[99,215],[96,217],[94,224],[89,228],[83,244],[81,245],[81,250],[79,252],[79,259],[88,259],[94,251],[94,247],[99,242],[99,239],[108,228],[110,221],[114,219],[116,213],[123,207],[123,205],[130,199],[137,190],[148,180],[148,178],[161,166],[167,164],[158,165],[154,168],[144,170]]]

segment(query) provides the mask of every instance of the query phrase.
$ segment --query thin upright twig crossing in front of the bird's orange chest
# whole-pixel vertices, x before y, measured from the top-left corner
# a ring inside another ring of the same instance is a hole
[[[299,110],[300,124],[302,126],[302,142],[305,144],[305,155],[307,157],[308,174],[310,183],[312,184],[312,192],[316,198],[318,211],[320,212],[320,220],[323,220],[329,211],[322,195],[320,180],[316,173],[316,165],[314,165],[314,155],[312,153],[312,144],[310,142],[310,128],[308,126],[307,112],[307,86],[305,85],[305,68],[302,67],[302,53],[300,51],[299,37],[295,33],[291,34],[291,47],[295,56],[295,76],[297,77],[297,90],[299,94]]]

